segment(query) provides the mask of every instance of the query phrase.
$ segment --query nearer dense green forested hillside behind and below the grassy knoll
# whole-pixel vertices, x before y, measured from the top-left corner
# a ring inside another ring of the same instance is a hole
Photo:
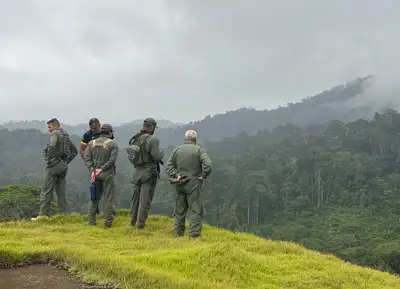
[[[0,185],[42,185],[40,149],[45,142],[46,135],[37,130],[1,130]],[[229,141],[209,142],[206,148],[213,174],[205,186],[205,218],[212,225],[296,241],[400,273],[398,112],[376,113],[370,121],[242,133]],[[166,157],[169,154],[166,151]],[[129,207],[132,197],[130,176],[131,166],[121,150],[117,182],[122,208]],[[77,157],[68,173],[70,210],[87,211],[88,180]],[[172,215],[172,192],[163,173],[152,213]],[[0,202],[10,204],[18,200]],[[26,212],[21,216],[29,217],[31,212]]]

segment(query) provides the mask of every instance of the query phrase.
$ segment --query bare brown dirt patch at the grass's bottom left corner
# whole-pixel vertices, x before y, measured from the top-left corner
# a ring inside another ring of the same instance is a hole
[[[84,289],[84,284],[72,280],[65,270],[45,265],[30,265],[0,269],[1,289]]]

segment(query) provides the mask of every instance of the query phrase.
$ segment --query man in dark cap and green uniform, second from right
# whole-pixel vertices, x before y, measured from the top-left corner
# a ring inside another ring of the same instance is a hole
[[[128,159],[134,166],[132,184],[131,225],[143,229],[153,201],[159,177],[159,164],[163,164],[164,151],[154,136],[157,123],[146,118],[143,128],[129,141]]]

